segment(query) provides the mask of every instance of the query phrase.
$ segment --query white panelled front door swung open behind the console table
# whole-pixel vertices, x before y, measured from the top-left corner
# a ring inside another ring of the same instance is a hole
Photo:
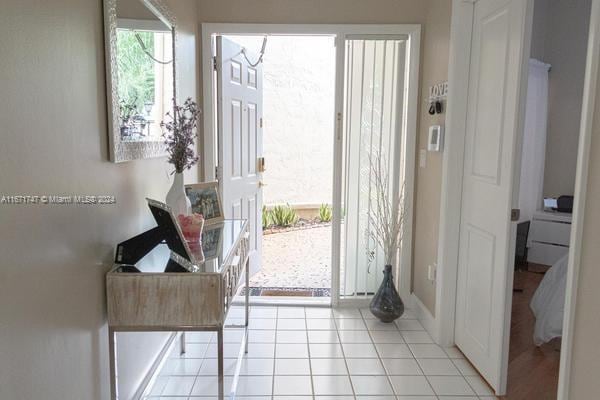
[[[247,219],[250,225],[250,273],[260,269],[262,188],[258,159],[262,156],[262,64],[252,66],[242,46],[217,37],[217,177],[225,218]],[[258,56],[246,51],[252,62]]]

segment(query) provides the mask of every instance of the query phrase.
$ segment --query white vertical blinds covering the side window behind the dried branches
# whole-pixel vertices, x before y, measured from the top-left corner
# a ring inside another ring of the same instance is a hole
[[[368,219],[377,198],[370,165],[381,159],[390,195],[397,196],[407,68],[405,38],[349,37],[345,46],[342,298],[372,295],[383,277],[383,251],[371,238]]]

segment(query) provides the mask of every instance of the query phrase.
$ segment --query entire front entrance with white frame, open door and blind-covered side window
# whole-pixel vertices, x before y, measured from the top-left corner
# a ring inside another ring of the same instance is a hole
[[[205,179],[219,181],[225,218],[249,222],[249,287],[260,294],[252,301],[367,304],[383,269],[380,249],[363,241],[375,204],[374,179],[365,175],[370,156],[389,163],[388,195],[402,196],[404,217],[412,218],[420,27],[203,24],[202,30],[203,63],[213,66],[203,69],[204,132],[212,133],[204,135]],[[299,51],[301,41],[308,46]],[[269,67],[273,45],[280,46],[271,61],[279,71]],[[299,78],[311,73],[316,78]],[[285,138],[294,125],[304,131]],[[296,245],[286,240],[294,235]],[[268,241],[276,238],[269,274],[263,266]],[[411,249],[407,224],[394,260],[405,298]],[[291,256],[282,258],[282,250]]]

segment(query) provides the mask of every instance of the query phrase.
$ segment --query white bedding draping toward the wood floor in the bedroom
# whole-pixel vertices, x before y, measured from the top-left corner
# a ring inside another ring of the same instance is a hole
[[[536,346],[562,336],[568,259],[567,254],[550,267],[529,304],[536,318],[533,332]]]

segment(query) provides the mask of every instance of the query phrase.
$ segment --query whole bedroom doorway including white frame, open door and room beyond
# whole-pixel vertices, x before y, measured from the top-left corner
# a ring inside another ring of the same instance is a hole
[[[482,393],[511,400],[556,398],[557,387],[566,398],[581,237],[569,211],[585,191],[598,58],[591,3],[453,2],[438,332],[491,386]],[[540,38],[546,51],[530,53]]]

